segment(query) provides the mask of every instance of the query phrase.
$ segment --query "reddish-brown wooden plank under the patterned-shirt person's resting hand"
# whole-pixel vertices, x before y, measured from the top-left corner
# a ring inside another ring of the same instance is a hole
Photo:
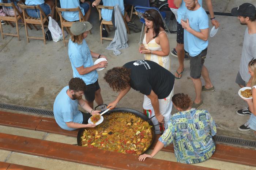
[[[136,155],[74,146],[17,135],[0,133],[0,136],[0,149],[2,150],[110,169],[166,170],[172,168],[175,170],[212,170],[211,168],[154,158],[140,162],[138,160],[139,157]]]

